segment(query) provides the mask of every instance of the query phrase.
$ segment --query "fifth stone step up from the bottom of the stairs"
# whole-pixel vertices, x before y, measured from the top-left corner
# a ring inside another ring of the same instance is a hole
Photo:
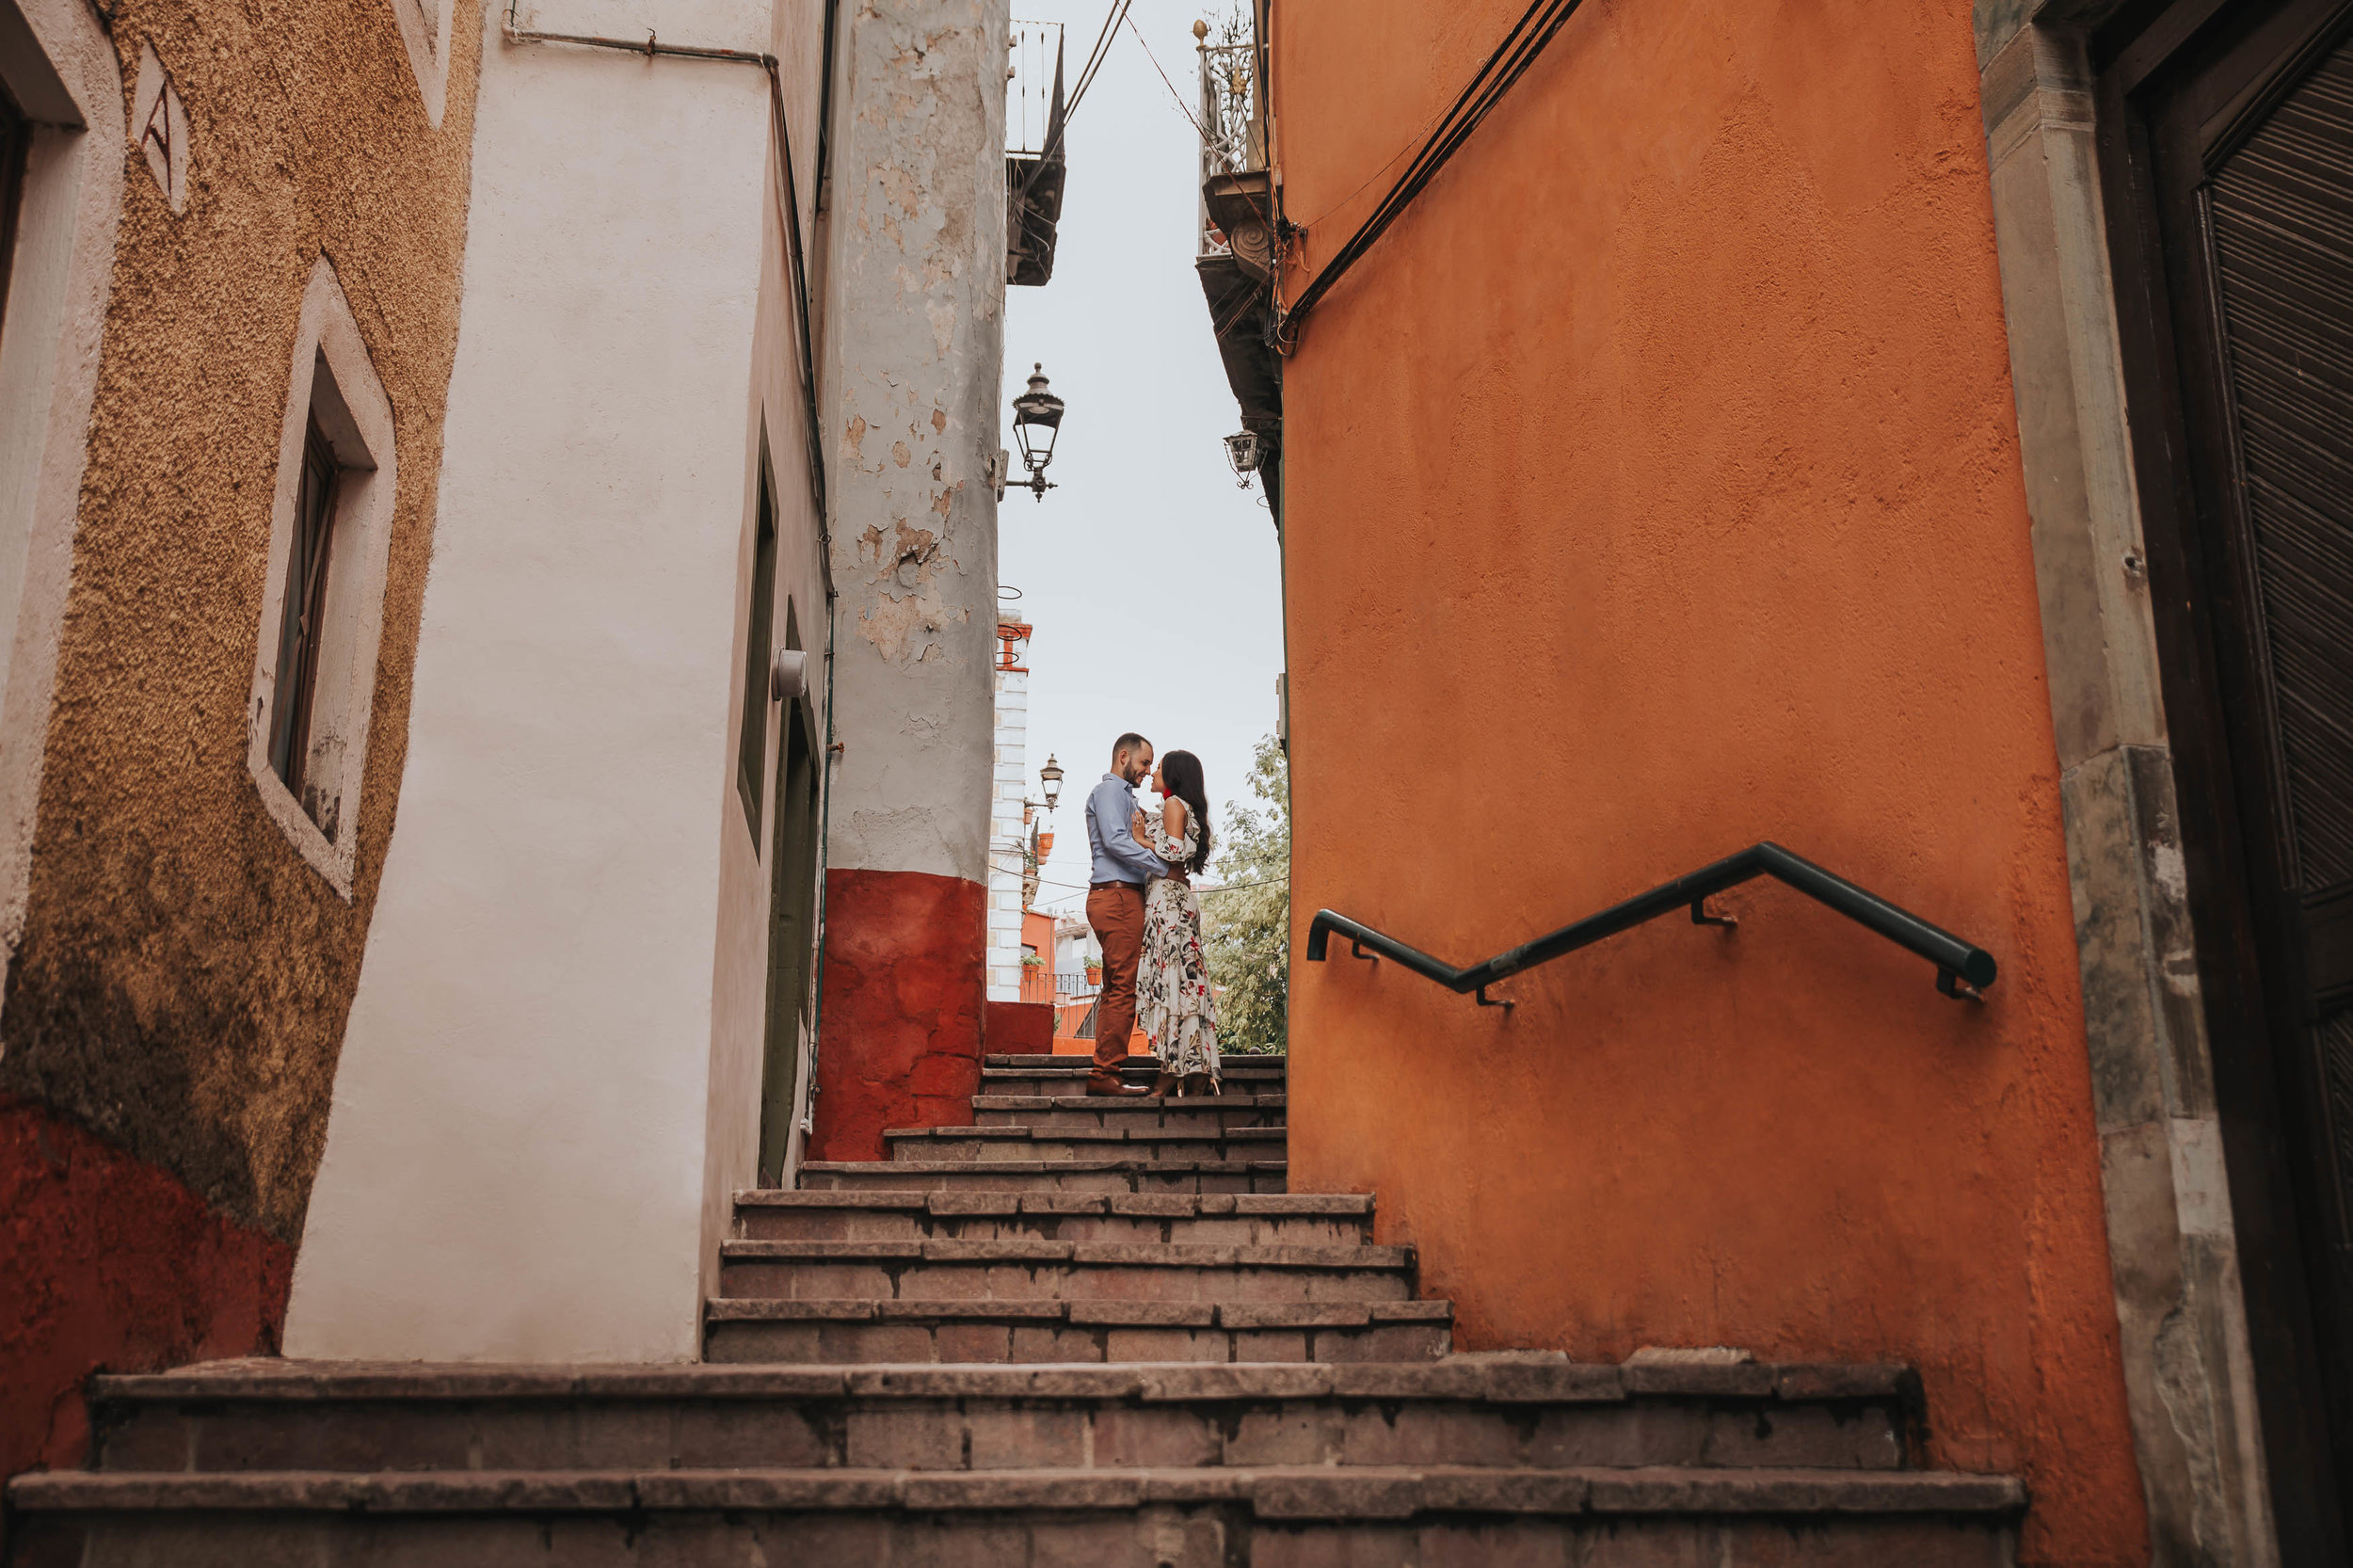
[[[1179,1241],[1360,1245],[1372,1198],[1353,1194],[781,1191],[736,1194],[746,1241]]]

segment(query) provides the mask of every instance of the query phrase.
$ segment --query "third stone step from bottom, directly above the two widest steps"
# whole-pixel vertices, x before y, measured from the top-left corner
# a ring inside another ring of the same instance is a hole
[[[704,1361],[1435,1361],[1452,1302],[704,1304]]]

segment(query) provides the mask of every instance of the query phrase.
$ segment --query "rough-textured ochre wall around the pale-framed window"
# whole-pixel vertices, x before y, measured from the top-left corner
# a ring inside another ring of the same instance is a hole
[[[296,1241],[407,760],[456,344],[480,12],[445,16],[440,127],[393,0],[122,0],[188,104],[172,214],[125,146],[122,231],[0,1088]],[[398,501],[344,902],[245,770],[245,704],[304,283],[334,261],[398,428]]]

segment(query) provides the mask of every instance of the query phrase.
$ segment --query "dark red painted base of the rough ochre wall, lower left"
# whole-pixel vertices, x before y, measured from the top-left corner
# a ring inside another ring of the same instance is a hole
[[[0,1476],[89,1460],[82,1382],[278,1354],[294,1248],[0,1095]]]

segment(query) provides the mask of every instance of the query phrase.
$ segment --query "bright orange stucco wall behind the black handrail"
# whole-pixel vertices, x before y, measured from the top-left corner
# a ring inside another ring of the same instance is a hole
[[[1275,2],[1292,294],[1520,9]],[[1774,883],[1513,1012],[1299,963],[1294,1187],[1471,1349],[1913,1363],[2026,1561],[2146,1561],[1967,0],[1588,0],[1306,320],[1285,466],[1297,954],[1774,838],[2002,965]]]

